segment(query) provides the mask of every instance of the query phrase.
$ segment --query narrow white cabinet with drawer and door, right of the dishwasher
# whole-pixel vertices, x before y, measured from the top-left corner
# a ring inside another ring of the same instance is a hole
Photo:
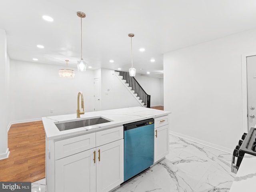
[[[169,154],[169,118],[155,118],[154,163]]]

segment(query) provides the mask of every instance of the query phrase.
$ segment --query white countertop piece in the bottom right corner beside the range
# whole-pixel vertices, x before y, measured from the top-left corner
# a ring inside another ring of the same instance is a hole
[[[229,192],[253,192],[256,187],[256,156],[245,154]]]

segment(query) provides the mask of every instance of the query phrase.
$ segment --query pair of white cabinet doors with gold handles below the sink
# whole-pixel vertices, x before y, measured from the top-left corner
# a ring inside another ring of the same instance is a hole
[[[56,192],[108,192],[124,182],[124,141],[56,160]],[[97,181],[97,182],[96,182]]]

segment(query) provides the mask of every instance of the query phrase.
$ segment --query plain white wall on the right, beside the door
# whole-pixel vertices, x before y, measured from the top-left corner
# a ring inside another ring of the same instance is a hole
[[[242,135],[241,54],[256,52],[256,30],[164,54],[170,130],[231,152]]]

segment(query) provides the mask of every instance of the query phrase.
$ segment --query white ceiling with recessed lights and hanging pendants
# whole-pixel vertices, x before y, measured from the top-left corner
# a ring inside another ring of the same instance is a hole
[[[63,66],[68,59],[75,67],[80,59],[77,11],[86,14],[82,57],[92,70],[127,71],[128,34],[134,33],[134,67],[154,77],[163,75],[166,52],[256,28],[256,0],[3,0],[0,29],[6,30],[10,58]],[[43,15],[54,22],[46,22]],[[144,52],[139,51],[142,47]]]

